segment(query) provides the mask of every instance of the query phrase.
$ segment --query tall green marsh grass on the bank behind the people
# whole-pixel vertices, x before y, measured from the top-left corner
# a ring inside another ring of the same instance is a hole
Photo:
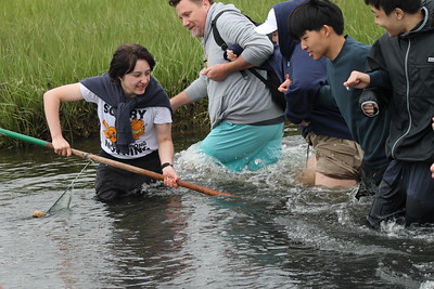
[[[181,26],[167,0],[0,0],[0,127],[50,140],[43,116],[43,92],[105,73],[122,43],[146,47],[157,65],[154,77],[169,96],[197,76],[201,42]],[[232,0],[243,13],[265,19],[277,1]],[[336,0],[347,16],[347,30],[372,43],[381,35],[362,0]],[[207,124],[206,101],[177,111],[176,123]],[[94,107],[63,104],[65,136],[98,132]],[[0,145],[13,143],[0,137]]]

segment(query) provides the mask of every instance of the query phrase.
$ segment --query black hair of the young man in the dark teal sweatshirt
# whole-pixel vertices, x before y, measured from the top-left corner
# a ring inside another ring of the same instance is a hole
[[[323,25],[344,34],[344,16],[341,9],[329,0],[308,0],[296,6],[288,17],[288,34],[299,39],[306,31],[319,31]]]

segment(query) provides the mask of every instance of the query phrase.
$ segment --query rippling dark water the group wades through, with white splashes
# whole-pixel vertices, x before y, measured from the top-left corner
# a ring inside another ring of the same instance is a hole
[[[92,145],[76,148],[97,153]],[[87,163],[30,147],[0,152],[0,287],[434,288],[434,228],[365,225],[370,199],[295,182],[306,147],[257,172],[228,173],[178,149],[188,182],[237,194],[149,187],[115,206],[93,200],[91,165],[71,210],[48,210]]]

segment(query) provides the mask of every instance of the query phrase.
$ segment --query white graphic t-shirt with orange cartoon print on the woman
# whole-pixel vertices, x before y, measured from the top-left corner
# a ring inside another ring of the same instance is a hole
[[[116,153],[116,129],[113,107],[102,101],[97,94],[80,84],[85,101],[98,105],[98,118],[101,121],[100,140],[101,148],[120,159],[140,158],[158,149],[155,124],[171,123],[170,109],[167,107],[135,108],[130,115],[132,136],[136,140],[130,144],[129,153]]]

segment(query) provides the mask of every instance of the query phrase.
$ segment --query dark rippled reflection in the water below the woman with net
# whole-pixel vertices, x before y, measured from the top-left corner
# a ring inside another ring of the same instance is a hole
[[[152,189],[152,188],[151,188]],[[144,286],[171,278],[182,266],[173,259],[180,250],[186,214],[181,197],[176,195],[146,196],[110,205],[113,237],[107,246],[118,274],[110,276],[112,285]]]

